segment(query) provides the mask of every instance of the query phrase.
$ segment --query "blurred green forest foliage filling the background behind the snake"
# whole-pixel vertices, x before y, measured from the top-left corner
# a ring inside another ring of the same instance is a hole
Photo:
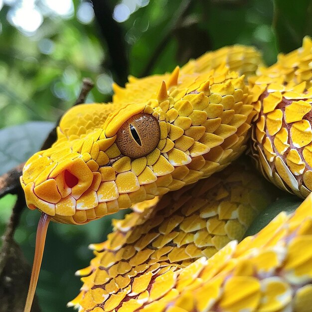
[[[311,0],[296,5],[290,0],[102,1],[114,17],[109,22],[121,29],[116,40],[125,43],[129,73],[137,77],[172,70],[207,50],[235,43],[257,46],[270,65],[279,51],[299,47],[303,36],[312,34]],[[112,66],[115,56],[106,40],[110,27],[100,29],[100,24],[88,1],[0,0],[0,128],[55,122],[75,102],[83,77],[95,82],[87,102],[110,100],[113,80],[123,79]],[[7,139],[16,129],[1,132],[7,137],[1,141],[0,163],[8,162],[1,151],[9,150]],[[43,140],[36,131],[29,136]],[[12,144],[21,158],[27,157],[18,150],[22,144]],[[13,195],[0,199],[0,233],[14,201]],[[25,210],[15,233],[29,263],[38,219],[38,212]],[[42,311],[68,311],[66,303],[81,286],[74,272],[88,265],[88,244],[103,241],[110,224],[111,218],[103,218],[84,226],[50,225],[37,289]]]

